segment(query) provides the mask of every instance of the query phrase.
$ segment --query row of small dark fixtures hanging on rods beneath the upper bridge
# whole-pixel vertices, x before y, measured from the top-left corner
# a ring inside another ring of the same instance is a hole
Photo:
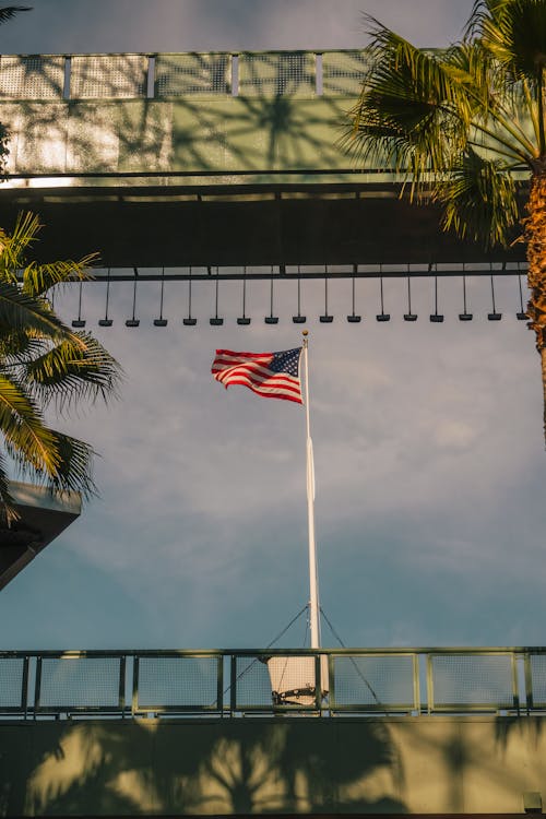
[[[356,268],[356,265],[355,265]],[[133,280],[133,299],[132,299],[132,316],[130,319],[127,319],[126,327],[128,328],[135,328],[140,325],[140,319],[136,318],[136,287],[138,287],[138,281],[139,281],[139,272],[136,268],[133,268],[134,271],[134,280]],[[328,274],[328,270],[325,270],[325,273]],[[521,283],[521,273],[518,273],[518,284],[519,284],[519,300],[520,300],[520,309],[515,313],[519,321],[526,321],[527,314],[525,312],[525,309],[523,307],[523,289],[522,289],[522,283]],[[218,276],[218,272],[216,269],[216,276],[215,278],[215,312],[214,316],[210,319],[210,324],[212,327],[221,327],[224,323],[224,319],[218,316],[218,283],[221,276]],[[265,316],[264,322],[265,324],[278,324],[278,316],[275,316],[273,312],[273,268],[271,268],[271,283],[270,283],[270,313],[269,316]],[[467,298],[466,298],[466,275],[463,274],[462,276],[462,283],[463,283],[463,312],[459,313],[460,321],[472,321],[474,318],[474,314],[472,312],[468,312],[467,307]],[[497,311],[497,306],[495,301],[495,281],[494,275],[491,274],[489,276],[489,283],[490,283],[490,290],[491,290],[491,306],[492,310],[487,313],[487,319],[489,321],[500,321],[502,318],[502,313]],[[79,289],[79,298],[78,298],[78,318],[72,321],[72,327],[76,329],[82,329],[85,327],[86,322],[85,319],[82,319],[82,288],[83,283],[80,282],[80,289]],[[153,320],[154,327],[167,327],[167,319],[163,314],[163,306],[164,306],[164,293],[165,293],[165,269],[162,271],[162,277],[161,277],[161,294],[159,294],[159,317]],[[188,278],[188,316],[182,319],[182,323],[186,327],[194,327],[198,323],[198,320],[194,316],[191,314],[191,297],[192,297],[192,278],[191,278],[191,268],[190,268],[190,277]],[[112,325],[112,319],[108,314],[109,309],[109,298],[110,298],[110,270],[108,269],[107,278],[106,278],[106,305],[105,305],[105,314],[104,318],[98,320],[98,325],[102,328],[108,328]],[[383,277],[379,277],[379,299],[380,299],[380,312],[376,314],[376,320],[380,322],[390,321],[391,314],[389,312],[385,312],[384,310],[384,293],[383,293]],[[298,311],[295,316],[292,317],[292,320],[295,324],[302,324],[307,321],[307,316],[304,316],[301,313],[301,278],[298,275],[297,277],[297,307]],[[240,316],[237,319],[237,324],[240,327],[248,327],[251,322],[251,318],[247,316],[246,313],[247,309],[247,278],[246,278],[246,268],[244,269],[244,277],[242,277],[242,316]],[[410,273],[407,274],[407,312],[404,313],[404,321],[414,322],[417,321],[417,313],[412,311],[412,276]],[[355,276],[352,277],[352,312],[346,317],[347,321],[349,323],[359,323],[361,321],[361,316],[359,316],[356,312],[356,297],[355,297]],[[443,313],[438,312],[438,276],[435,276],[435,311],[430,313],[429,319],[434,323],[441,323],[443,322]],[[332,313],[328,311],[328,275],[324,277],[324,312],[319,316],[319,321],[323,324],[331,324],[334,320],[334,317]]]

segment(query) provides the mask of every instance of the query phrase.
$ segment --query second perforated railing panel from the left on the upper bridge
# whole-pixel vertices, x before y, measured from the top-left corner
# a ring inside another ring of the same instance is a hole
[[[132,98],[146,95],[147,58],[142,55],[72,57],[72,99]]]

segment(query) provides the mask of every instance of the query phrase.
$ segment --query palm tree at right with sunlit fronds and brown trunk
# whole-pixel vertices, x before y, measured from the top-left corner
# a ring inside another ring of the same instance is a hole
[[[342,143],[407,174],[412,198],[441,205],[443,229],[486,247],[526,242],[546,440],[546,0],[476,0],[462,41],[442,51],[368,21],[369,67]]]

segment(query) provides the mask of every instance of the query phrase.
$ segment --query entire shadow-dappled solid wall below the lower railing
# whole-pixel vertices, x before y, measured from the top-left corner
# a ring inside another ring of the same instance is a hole
[[[521,814],[544,717],[0,725],[0,815]]]

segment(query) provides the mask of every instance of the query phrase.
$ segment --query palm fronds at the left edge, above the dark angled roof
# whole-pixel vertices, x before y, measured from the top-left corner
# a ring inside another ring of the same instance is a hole
[[[72,332],[46,297],[56,285],[86,278],[96,257],[28,261],[40,227],[27,213],[11,234],[0,229],[0,525],[16,517],[8,460],[51,489],[94,494],[92,448],[50,427],[45,413],[107,400],[121,375],[107,351],[90,333]]]

